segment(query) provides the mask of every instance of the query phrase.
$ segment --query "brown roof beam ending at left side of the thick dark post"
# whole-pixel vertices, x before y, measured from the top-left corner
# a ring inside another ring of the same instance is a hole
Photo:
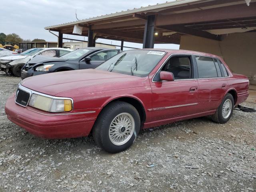
[[[107,28],[116,28],[116,27],[126,27],[126,26],[138,26],[144,25],[144,20],[130,20],[130,21],[123,21],[123,22],[113,22],[113,23],[106,23],[100,25],[92,25],[92,30],[96,29],[107,29]]]

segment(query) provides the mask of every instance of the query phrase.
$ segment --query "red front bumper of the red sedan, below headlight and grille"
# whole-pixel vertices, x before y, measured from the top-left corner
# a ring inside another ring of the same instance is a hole
[[[72,113],[52,115],[30,106],[15,103],[15,94],[8,98],[5,106],[7,118],[31,134],[41,138],[76,138],[88,136],[96,120],[95,113]]]

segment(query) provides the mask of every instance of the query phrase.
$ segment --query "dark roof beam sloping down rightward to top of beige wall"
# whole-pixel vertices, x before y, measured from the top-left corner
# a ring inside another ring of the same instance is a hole
[[[170,31],[174,31],[174,32],[178,32],[178,33],[182,33],[182,34],[186,34],[186,35],[194,35],[194,36],[204,37],[204,38],[208,38],[208,39],[212,39],[212,40],[218,40],[218,41],[221,40],[220,36],[211,34],[206,31],[201,31],[201,30],[197,30],[197,29],[193,29],[193,28],[189,28],[189,27],[184,27],[182,25],[158,26],[158,28],[161,28],[164,30],[170,30]]]

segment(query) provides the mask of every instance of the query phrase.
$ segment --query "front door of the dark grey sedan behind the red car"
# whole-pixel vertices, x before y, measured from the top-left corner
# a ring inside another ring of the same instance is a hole
[[[98,51],[89,57],[91,58],[90,61],[85,61],[82,59],[80,61],[80,69],[88,69],[88,68],[96,68],[100,64],[102,64],[104,61],[108,60],[109,58],[115,56],[119,53],[118,49],[108,49],[108,50],[101,50]]]

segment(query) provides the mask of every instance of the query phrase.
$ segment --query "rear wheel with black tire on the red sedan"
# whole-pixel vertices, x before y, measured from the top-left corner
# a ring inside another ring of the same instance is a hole
[[[213,114],[212,120],[216,123],[226,123],[232,116],[234,109],[234,98],[231,94],[226,94],[224,99],[222,100],[220,106],[216,110],[215,114]]]

